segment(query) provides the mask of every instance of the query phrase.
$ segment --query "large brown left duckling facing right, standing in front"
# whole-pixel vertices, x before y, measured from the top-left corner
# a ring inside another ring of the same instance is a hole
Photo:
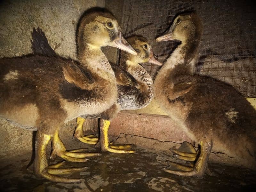
[[[99,114],[115,105],[115,74],[100,47],[110,45],[137,54],[110,13],[84,15],[77,38],[80,62],[45,56],[0,59],[0,116],[22,128],[37,130],[34,172],[55,182],[81,182],[83,179],[56,174],[84,167],[48,166],[49,140],[52,139],[56,155],[73,162],[87,161],[84,153],[66,151],[58,131],[63,123],[77,116]]]

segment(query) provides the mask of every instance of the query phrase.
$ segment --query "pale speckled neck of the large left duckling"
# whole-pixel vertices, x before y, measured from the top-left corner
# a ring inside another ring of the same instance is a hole
[[[108,62],[107,57],[101,51],[100,46],[85,44],[84,50],[78,53],[78,60],[81,65],[90,68],[93,72],[102,76],[102,72],[107,72],[115,77],[114,71]]]

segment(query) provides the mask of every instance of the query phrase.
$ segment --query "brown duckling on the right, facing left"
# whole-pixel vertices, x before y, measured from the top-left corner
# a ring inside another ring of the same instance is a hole
[[[191,141],[200,142],[199,156],[192,169],[164,171],[202,177],[211,151],[225,153],[255,169],[255,109],[231,85],[193,72],[201,30],[196,13],[183,13],[174,19],[164,35],[156,38],[157,42],[176,39],[181,43],[156,76],[155,98]]]

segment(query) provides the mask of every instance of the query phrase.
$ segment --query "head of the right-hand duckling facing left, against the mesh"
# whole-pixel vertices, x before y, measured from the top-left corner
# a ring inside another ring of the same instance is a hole
[[[195,12],[183,13],[174,19],[172,26],[164,35],[156,38],[156,41],[170,41],[176,39],[182,42],[188,42],[190,40],[199,40],[201,30],[201,20]]]

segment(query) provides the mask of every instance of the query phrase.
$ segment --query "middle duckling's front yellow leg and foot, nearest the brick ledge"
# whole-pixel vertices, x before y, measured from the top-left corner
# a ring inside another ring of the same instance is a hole
[[[108,151],[111,153],[134,153],[133,150],[124,150],[119,148],[112,148],[108,138],[108,128],[110,121],[100,119],[100,146],[102,151]]]

